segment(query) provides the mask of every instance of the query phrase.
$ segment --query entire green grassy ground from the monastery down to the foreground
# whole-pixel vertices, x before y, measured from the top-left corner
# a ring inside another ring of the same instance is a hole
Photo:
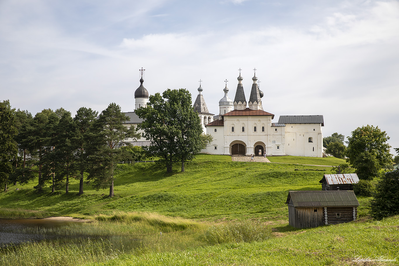
[[[284,164],[231,162],[229,156],[201,154],[186,164],[184,173],[178,163],[171,174],[153,163],[119,165],[113,198],[90,184],[78,196],[78,181],[69,186],[68,195],[51,193],[49,187],[38,194],[32,188],[36,181],[18,185],[18,191],[11,186],[0,193],[0,216],[95,217],[94,223],[57,230],[98,240],[0,249],[0,265],[398,264],[399,217],[367,220],[370,198],[358,198],[361,219],[356,222],[313,229],[288,225],[288,191],[320,190],[323,174],[335,173],[332,167],[299,164],[337,165],[344,160],[270,159]],[[32,230],[28,233],[52,233]],[[371,261],[379,258],[394,262]]]

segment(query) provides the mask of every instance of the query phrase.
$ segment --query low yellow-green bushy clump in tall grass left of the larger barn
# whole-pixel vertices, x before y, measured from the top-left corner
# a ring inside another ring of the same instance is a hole
[[[214,225],[207,229],[203,240],[208,244],[263,241],[271,237],[271,230],[260,223],[241,221]]]

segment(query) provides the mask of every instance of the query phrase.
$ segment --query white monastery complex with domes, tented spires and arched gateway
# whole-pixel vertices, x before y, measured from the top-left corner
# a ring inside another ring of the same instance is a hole
[[[140,70],[143,74],[144,70]],[[322,115],[285,115],[278,122],[272,122],[275,115],[265,112],[262,107],[263,92],[259,90],[257,77],[252,78],[253,84],[249,100],[245,98],[239,75],[234,101],[227,94],[229,89],[223,89],[224,97],[219,100],[219,115],[209,112],[201,85],[194,101],[194,111],[201,119],[204,133],[213,136],[213,141],[202,150],[208,154],[251,155],[262,156],[312,156],[322,157],[323,135]],[[134,92],[135,109],[145,107],[149,100],[148,91],[140,79],[140,87]],[[125,125],[137,126],[142,122],[135,112],[125,112],[130,118]],[[140,138],[133,145],[147,146],[150,142]]]

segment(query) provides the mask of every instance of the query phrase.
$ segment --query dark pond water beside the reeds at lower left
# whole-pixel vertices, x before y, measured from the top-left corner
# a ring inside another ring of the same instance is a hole
[[[38,242],[54,239],[51,234],[27,233],[34,228],[55,228],[77,224],[79,222],[58,221],[47,219],[0,219],[0,247],[18,245],[24,242]]]

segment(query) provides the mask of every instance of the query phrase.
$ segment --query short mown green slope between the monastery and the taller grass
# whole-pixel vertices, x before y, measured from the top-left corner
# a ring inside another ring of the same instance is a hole
[[[292,157],[274,158],[290,161]],[[330,158],[302,159],[306,164],[326,165],[331,162]],[[298,158],[295,161],[300,162]],[[323,167],[231,162],[230,156],[199,154],[196,160],[186,163],[183,173],[179,163],[174,166],[172,174],[166,173],[165,167],[156,163],[119,165],[115,177],[116,196],[113,198],[107,197],[108,189],[96,191],[90,183],[85,185],[85,193],[78,196],[78,181],[74,179],[68,195],[63,188],[51,193],[50,187],[38,194],[32,188],[37,181],[33,181],[28,185],[17,185],[19,191],[10,186],[7,193],[0,193],[0,207],[74,217],[134,211],[198,221],[257,219],[288,222],[285,204],[288,191],[320,190],[319,181],[323,174],[335,173],[331,167],[324,167],[326,171],[295,169],[320,168]]]

